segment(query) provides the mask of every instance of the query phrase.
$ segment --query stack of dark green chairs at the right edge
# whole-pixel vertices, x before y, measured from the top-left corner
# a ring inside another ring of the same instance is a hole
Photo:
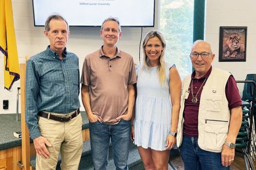
[[[237,152],[244,155],[246,169],[254,170],[253,161],[256,158],[256,135],[255,135],[255,121],[254,114],[256,111],[255,96],[256,96],[256,74],[249,74],[245,81],[237,81],[237,83],[244,83],[244,90],[242,96],[242,125],[237,136],[236,146]]]

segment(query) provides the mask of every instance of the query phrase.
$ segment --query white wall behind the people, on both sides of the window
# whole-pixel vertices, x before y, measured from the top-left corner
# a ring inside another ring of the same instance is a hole
[[[158,9],[158,0],[156,9]],[[18,57],[20,63],[25,63],[25,56],[32,56],[46,49],[49,44],[45,38],[44,28],[34,27],[31,0],[12,0],[14,27],[17,40]],[[256,73],[256,2],[254,0],[208,0],[206,1],[205,39],[212,44],[216,54],[214,66],[232,72],[236,80],[244,80],[249,73]],[[106,16],[108,17],[108,16]],[[158,10],[156,10],[155,25],[158,24]],[[219,62],[219,27],[247,26],[246,62]],[[145,33],[153,28],[144,28]],[[157,29],[157,26],[154,28]],[[98,50],[102,44],[99,28],[70,28],[71,35],[68,50],[76,53],[80,58],[80,69],[83,59],[88,54]],[[138,62],[140,28],[123,28],[123,36],[119,47],[130,53]],[[0,114],[16,112],[16,93],[19,81],[13,85],[12,92],[4,90],[3,56],[0,57]],[[242,92],[243,84],[238,84]],[[3,110],[3,100],[9,100],[9,109]],[[81,107],[83,110],[83,107]]]

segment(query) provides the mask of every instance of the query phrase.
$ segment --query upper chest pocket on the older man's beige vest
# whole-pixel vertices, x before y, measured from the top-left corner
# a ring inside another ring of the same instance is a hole
[[[206,110],[220,112],[222,107],[222,95],[206,95]]]

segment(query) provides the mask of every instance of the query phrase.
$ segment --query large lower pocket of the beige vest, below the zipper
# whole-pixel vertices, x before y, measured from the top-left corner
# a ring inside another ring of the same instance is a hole
[[[226,125],[223,125],[226,123]],[[218,124],[218,122],[216,122]],[[222,125],[205,124],[204,147],[209,150],[218,151],[226,140],[228,122],[221,122]]]

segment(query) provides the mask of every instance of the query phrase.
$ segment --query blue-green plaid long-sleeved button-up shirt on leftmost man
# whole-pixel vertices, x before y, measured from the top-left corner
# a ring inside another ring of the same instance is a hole
[[[26,123],[32,139],[39,137],[39,111],[69,113],[80,107],[78,57],[63,52],[63,60],[47,47],[32,56],[26,68]]]

